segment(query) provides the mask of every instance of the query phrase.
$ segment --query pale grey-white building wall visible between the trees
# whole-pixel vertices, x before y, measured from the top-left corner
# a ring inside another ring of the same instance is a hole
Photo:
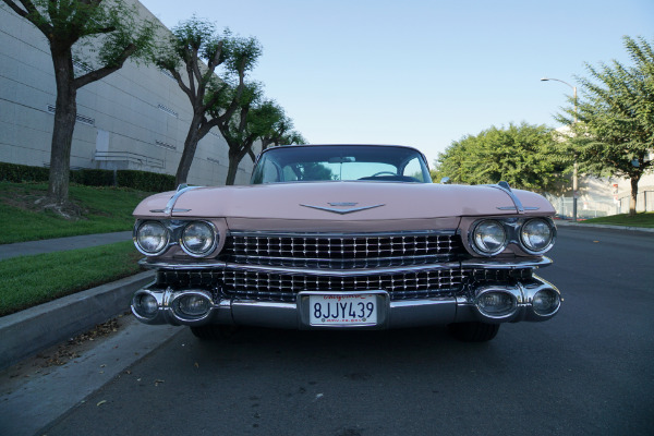
[[[141,3],[141,14],[157,20]],[[0,161],[48,166],[55,76],[46,38],[0,4]],[[126,62],[77,92],[72,168],[137,169],[174,174],[192,118],[177,82],[154,66]],[[198,144],[189,183],[223,184],[227,144],[211,132]],[[247,183],[250,158],[237,184]]]

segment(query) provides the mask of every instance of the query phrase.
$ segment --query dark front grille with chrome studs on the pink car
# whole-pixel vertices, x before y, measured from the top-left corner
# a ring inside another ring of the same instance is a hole
[[[157,286],[213,289],[221,298],[294,302],[304,291],[384,290],[390,299],[455,296],[472,282],[520,278],[531,269],[461,268],[452,231],[396,233],[231,232],[223,267],[161,269]]]

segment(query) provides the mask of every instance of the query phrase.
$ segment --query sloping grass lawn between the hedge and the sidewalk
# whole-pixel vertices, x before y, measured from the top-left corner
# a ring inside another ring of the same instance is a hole
[[[70,198],[86,211],[70,221],[39,211],[34,202],[45,196],[45,183],[0,183],[0,244],[131,230],[132,211],[149,193],[142,191],[71,185]]]

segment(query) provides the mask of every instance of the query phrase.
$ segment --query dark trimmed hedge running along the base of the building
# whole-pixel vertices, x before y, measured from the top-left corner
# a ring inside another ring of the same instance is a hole
[[[44,167],[0,162],[0,181],[47,182],[50,170]],[[174,177],[138,170],[71,170],[71,183],[86,186],[121,186],[147,192],[174,190]]]

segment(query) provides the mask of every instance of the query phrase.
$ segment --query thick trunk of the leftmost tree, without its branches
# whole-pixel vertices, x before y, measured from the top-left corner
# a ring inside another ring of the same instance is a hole
[[[77,89],[73,84],[73,60],[70,50],[50,47],[57,83],[55,124],[50,149],[48,201],[59,206],[68,203],[71,170],[71,146],[77,117]]]

